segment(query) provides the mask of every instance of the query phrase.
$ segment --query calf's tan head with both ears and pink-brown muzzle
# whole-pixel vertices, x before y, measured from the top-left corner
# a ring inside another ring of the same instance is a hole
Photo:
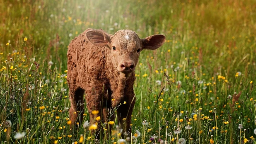
[[[86,36],[94,45],[108,46],[114,67],[127,76],[134,72],[141,51],[158,49],[165,42],[164,35],[151,35],[140,39],[132,30],[118,30],[114,35],[103,30],[89,30]]]

